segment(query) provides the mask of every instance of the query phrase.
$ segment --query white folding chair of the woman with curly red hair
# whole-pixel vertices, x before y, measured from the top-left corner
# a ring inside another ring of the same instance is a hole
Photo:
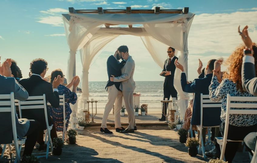
[[[233,101],[233,103],[231,102]],[[234,141],[227,139],[228,137],[228,124],[229,124],[229,115],[231,114],[257,114],[257,104],[256,103],[245,103],[246,101],[257,101],[257,97],[240,97],[240,96],[230,96],[227,95],[227,110],[226,110],[226,121],[224,135],[222,137],[217,137],[217,143],[220,145],[221,155],[220,160],[225,160],[225,149],[228,141]],[[237,103],[234,103],[237,102]],[[242,109],[244,108],[244,109]],[[239,140],[242,142],[243,140]]]

